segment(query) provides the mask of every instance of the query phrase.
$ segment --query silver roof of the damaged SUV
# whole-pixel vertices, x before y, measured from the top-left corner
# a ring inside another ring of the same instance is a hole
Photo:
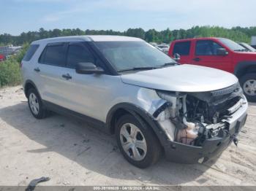
[[[113,41],[143,41],[142,39],[130,36],[113,36],[113,35],[83,35],[83,36],[61,36],[49,39],[40,39],[32,42],[37,44],[42,42],[65,42],[69,40],[81,40],[86,42],[113,42]]]

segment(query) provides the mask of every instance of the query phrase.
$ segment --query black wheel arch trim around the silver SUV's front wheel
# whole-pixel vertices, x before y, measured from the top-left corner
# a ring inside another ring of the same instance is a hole
[[[162,146],[165,145],[167,141],[167,136],[162,131],[162,128],[159,126],[158,122],[151,117],[148,112],[144,109],[136,106],[135,104],[130,103],[121,103],[113,106],[107,115],[106,125],[111,134],[115,133],[116,130],[116,121],[118,117],[121,117],[124,114],[132,114],[134,117],[138,118],[139,121],[143,120],[147,125],[154,131],[154,134],[157,136],[159,143]]]

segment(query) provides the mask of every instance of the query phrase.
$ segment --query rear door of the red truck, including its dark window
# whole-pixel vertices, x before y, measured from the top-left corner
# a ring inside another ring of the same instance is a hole
[[[191,41],[175,42],[173,45],[172,57],[178,53],[181,56],[181,60],[179,60],[178,63],[189,63],[191,61],[190,52]]]

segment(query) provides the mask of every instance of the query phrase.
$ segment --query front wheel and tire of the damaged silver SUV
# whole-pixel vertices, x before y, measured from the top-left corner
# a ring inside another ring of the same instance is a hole
[[[157,163],[162,152],[153,130],[136,117],[126,114],[116,123],[116,139],[124,158],[138,168]]]

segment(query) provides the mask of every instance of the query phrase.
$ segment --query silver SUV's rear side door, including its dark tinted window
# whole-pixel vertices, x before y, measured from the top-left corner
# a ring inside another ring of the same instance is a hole
[[[62,77],[67,73],[66,51],[67,44],[63,42],[47,44],[39,58],[37,68],[34,69],[42,82],[40,86],[42,98],[60,106],[67,105],[64,85],[66,79]]]

